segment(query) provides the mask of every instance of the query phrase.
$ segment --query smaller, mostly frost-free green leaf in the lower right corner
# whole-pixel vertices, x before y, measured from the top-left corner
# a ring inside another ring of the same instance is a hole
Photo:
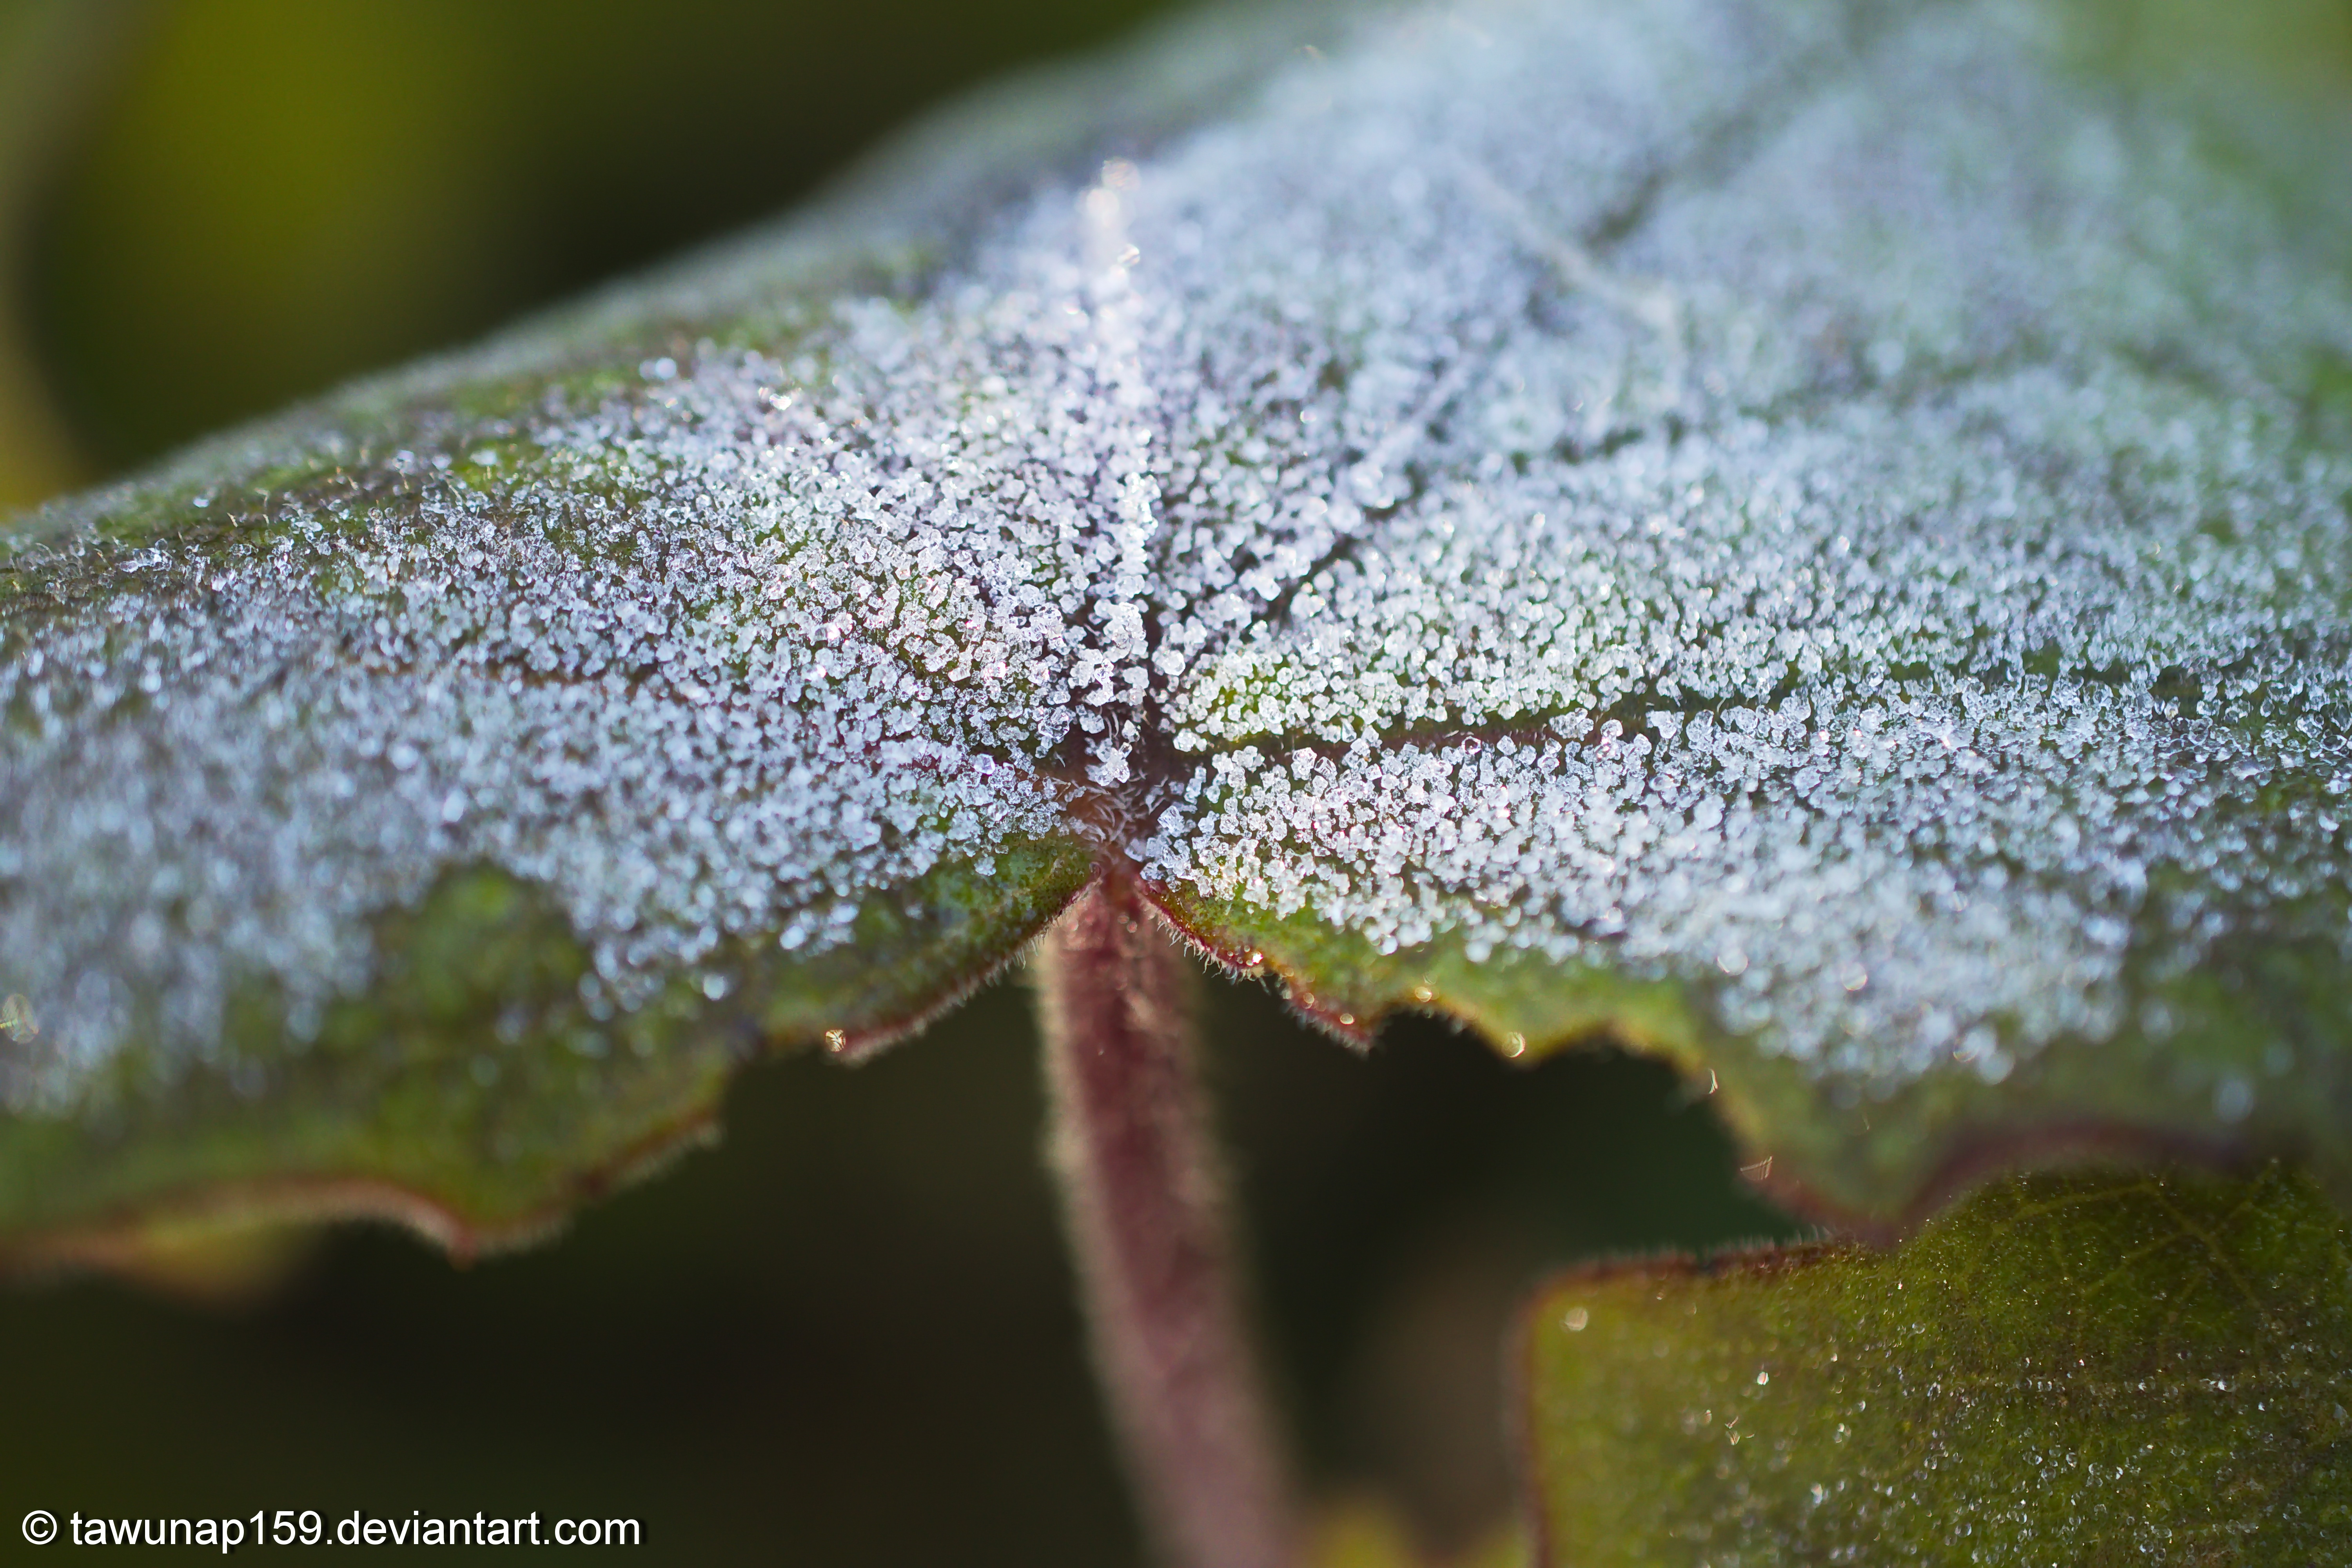
[[[1524,1331],[1541,1561],[2340,1561],[2347,1241],[2279,1166],[2077,1173],[1893,1253],[1564,1279]]]

